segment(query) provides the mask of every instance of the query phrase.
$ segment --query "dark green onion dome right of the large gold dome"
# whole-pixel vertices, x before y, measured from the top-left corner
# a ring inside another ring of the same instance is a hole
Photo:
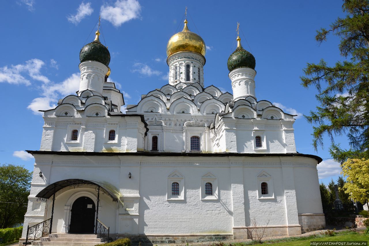
[[[255,57],[241,45],[241,38],[237,37],[237,49],[228,58],[227,66],[231,72],[236,68],[252,68],[255,69]]]

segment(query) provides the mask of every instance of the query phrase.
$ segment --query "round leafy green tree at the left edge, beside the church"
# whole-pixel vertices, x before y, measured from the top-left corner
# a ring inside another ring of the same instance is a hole
[[[0,228],[23,222],[31,179],[32,173],[23,166],[0,166]]]

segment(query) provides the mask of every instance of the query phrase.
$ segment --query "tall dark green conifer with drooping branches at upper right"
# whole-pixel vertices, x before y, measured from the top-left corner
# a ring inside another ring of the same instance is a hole
[[[323,59],[307,64],[301,77],[306,88],[318,90],[320,106],[305,116],[313,124],[313,146],[323,147],[323,137],[331,139],[332,157],[343,163],[348,158],[369,158],[369,2],[344,0],[345,18],[337,18],[330,28],[321,28],[315,39],[321,43],[329,34],[337,35],[344,61],[329,66]],[[346,134],[350,149],[342,149],[335,136]]]

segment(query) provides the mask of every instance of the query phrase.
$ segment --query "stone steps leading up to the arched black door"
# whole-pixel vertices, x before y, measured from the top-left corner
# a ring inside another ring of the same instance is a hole
[[[52,233],[32,242],[32,246],[95,246],[102,243],[95,234]]]

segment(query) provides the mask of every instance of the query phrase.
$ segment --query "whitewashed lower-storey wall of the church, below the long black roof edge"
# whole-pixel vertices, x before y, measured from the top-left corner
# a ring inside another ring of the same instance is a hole
[[[24,228],[28,223],[35,224],[50,216],[51,199],[45,209],[45,203],[36,202],[35,195],[48,184],[68,178],[98,182],[117,194],[118,203],[100,195],[99,219],[111,226],[111,233],[118,236],[221,233],[242,238],[247,237],[246,226],[254,217],[259,225],[269,221],[267,231],[270,235],[296,235],[301,233],[301,226],[307,228],[306,218],[299,215],[318,216],[323,212],[319,205],[320,195],[314,193],[319,190],[319,184],[312,182],[317,178],[317,161],[308,157],[37,153],[34,156],[35,171]],[[40,170],[42,178],[38,176]],[[212,178],[216,190],[212,198],[204,199],[201,195],[204,175]],[[183,194],[179,199],[172,199],[170,194],[168,197],[171,192],[168,184],[176,179],[183,185]],[[266,197],[262,197],[259,190],[262,180],[269,185]],[[57,192],[53,232],[68,231],[68,206],[72,204],[71,197],[77,198],[78,194],[94,198],[96,191],[81,186]],[[324,221],[314,221],[314,225],[309,226],[318,228],[324,226]],[[23,234],[25,236],[25,231]]]

